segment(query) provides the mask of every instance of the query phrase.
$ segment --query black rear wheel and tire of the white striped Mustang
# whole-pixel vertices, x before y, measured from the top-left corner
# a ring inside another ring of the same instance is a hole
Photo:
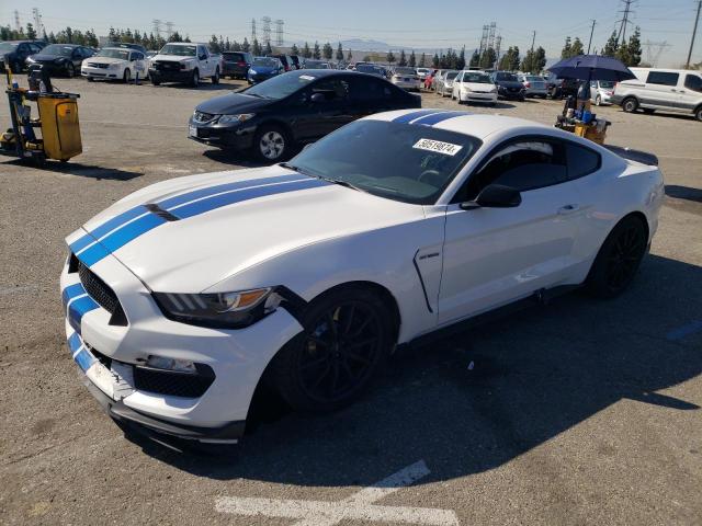
[[[646,254],[648,231],[644,220],[627,216],[607,237],[586,281],[588,291],[598,298],[614,298],[632,283]]]

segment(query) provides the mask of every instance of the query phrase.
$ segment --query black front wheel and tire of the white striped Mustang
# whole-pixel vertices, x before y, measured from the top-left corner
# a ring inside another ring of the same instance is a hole
[[[390,313],[373,291],[349,287],[313,301],[304,331],[272,364],[272,379],[297,411],[324,413],[367,389],[393,346]]]

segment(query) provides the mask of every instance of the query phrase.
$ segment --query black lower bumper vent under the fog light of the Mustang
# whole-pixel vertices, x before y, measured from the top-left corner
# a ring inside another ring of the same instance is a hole
[[[212,368],[206,365],[197,364],[196,367],[197,374],[135,367],[134,387],[140,391],[159,395],[199,398],[215,380],[215,375]]]

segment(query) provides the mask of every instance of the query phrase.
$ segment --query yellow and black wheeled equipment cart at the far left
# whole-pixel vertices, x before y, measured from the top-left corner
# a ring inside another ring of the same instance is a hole
[[[82,150],[76,93],[54,91],[41,68],[30,71],[30,89],[20,88],[8,64],[2,64],[8,82],[12,126],[0,136],[0,153],[43,163],[46,159],[67,162]],[[38,118],[32,118],[36,103]],[[38,134],[37,134],[38,132]]]

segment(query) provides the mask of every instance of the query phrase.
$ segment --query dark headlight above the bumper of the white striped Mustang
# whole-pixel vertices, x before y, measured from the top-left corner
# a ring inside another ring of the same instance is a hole
[[[217,294],[154,293],[154,299],[171,320],[217,329],[248,327],[282,301],[271,287]]]

